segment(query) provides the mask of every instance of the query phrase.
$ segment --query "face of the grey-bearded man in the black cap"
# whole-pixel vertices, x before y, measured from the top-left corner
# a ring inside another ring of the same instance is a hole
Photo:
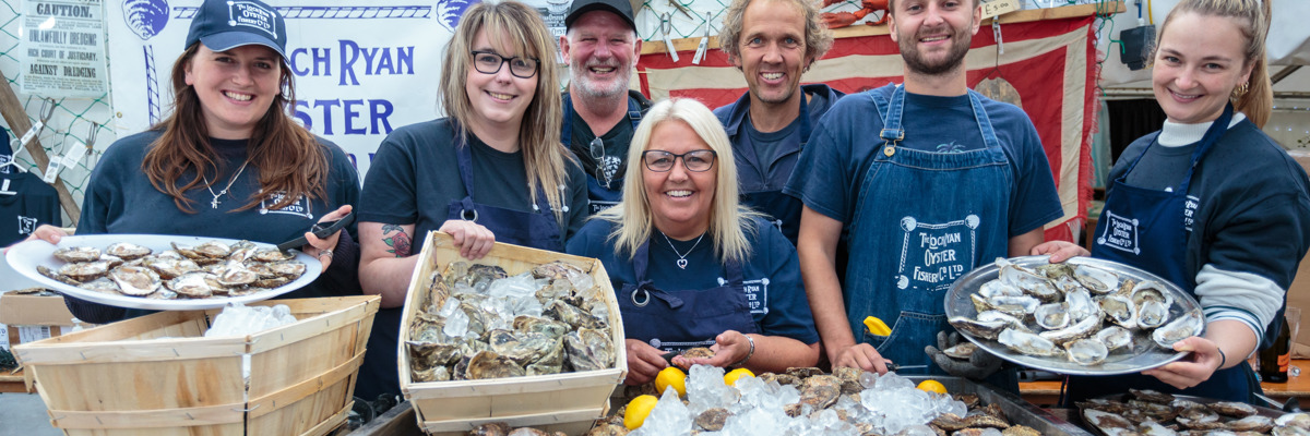
[[[608,10],[582,14],[559,39],[559,51],[569,59],[570,86],[596,98],[627,93],[627,80],[641,50],[633,27]]]

